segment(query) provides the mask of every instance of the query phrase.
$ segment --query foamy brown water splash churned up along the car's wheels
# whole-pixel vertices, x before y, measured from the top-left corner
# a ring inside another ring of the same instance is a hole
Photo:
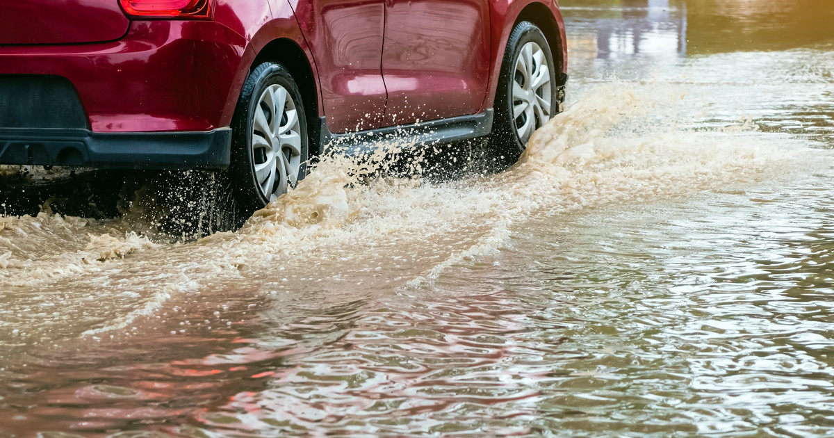
[[[414,288],[510,244],[515,224],[530,217],[751,184],[807,161],[796,144],[786,147],[789,138],[774,141],[750,126],[678,128],[677,105],[685,95],[662,83],[587,88],[535,133],[518,164],[500,174],[431,183],[374,172],[367,161],[325,157],[238,232],[188,244],[154,243],[131,232],[147,228],[131,222],[141,215],[102,222],[48,214],[3,218],[0,284],[32,289],[8,298],[0,314],[23,315],[34,297],[43,297],[39,291],[56,282],[103,296],[133,294],[121,296],[115,308],[103,305],[107,319],[78,320],[67,331],[44,335],[46,342],[73,330],[123,329],[208,284],[245,287],[287,276],[292,285],[299,272],[309,277],[334,270],[368,284],[390,265],[399,267],[397,287]],[[422,165],[421,159],[415,160]],[[276,273],[276,266],[287,274]],[[84,304],[63,305],[70,315]],[[16,320],[46,324],[36,316]]]

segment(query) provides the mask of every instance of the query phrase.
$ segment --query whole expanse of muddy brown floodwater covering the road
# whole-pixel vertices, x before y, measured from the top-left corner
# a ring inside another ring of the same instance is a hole
[[[834,433],[834,5],[562,2],[520,164],[0,218],[0,436]]]

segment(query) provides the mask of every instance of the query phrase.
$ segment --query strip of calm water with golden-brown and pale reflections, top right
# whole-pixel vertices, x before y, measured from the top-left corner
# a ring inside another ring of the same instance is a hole
[[[834,42],[829,0],[619,0],[560,2],[569,21],[595,28],[597,58],[772,51]]]

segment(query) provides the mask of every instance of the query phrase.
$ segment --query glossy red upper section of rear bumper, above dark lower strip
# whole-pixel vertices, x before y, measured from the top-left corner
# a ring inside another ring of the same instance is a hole
[[[0,88],[26,77],[61,78],[83,113],[83,126],[70,128],[94,133],[210,131],[229,126],[245,79],[246,44],[214,21],[134,21],[117,41],[0,45]],[[3,113],[20,108],[25,117],[53,106],[25,107],[19,99],[3,104],[0,128],[22,127],[3,120]],[[50,126],[59,127],[66,126]]]

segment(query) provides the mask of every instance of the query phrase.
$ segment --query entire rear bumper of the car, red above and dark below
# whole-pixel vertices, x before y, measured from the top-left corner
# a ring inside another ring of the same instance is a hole
[[[228,167],[245,43],[160,20],[106,43],[0,45],[0,164]]]

